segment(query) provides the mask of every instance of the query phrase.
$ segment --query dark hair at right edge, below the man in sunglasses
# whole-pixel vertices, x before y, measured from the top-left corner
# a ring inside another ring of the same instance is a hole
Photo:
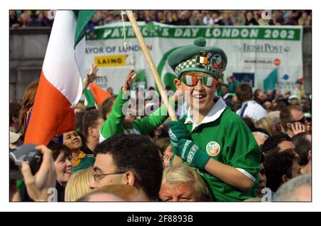
[[[298,133],[292,137],[292,142],[295,145],[296,152],[300,156],[299,165],[307,165],[309,163],[308,154],[312,149],[311,141],[307,140],[309,133]]]

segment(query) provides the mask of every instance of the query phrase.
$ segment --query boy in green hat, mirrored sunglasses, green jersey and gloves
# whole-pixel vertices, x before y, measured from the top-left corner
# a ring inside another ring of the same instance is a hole
[[[258,190],[260,148],[243,120],[215,96],[228,63],[220,48],[205,47],[204,38],[170,54],[178,75],[175,86],[190,108],[170,122],[174,153],[197,168],[218,201],[242,201]]]

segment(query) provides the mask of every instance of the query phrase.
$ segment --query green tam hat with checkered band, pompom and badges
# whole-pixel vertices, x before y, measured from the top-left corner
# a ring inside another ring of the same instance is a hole
[[[178,77],[185,71],[202,71],[216,79],[223,78],[228,58],[223,49],[205,47],[205,38],[196,38],[193,45],[182,46],[168,56],[168,65]]]

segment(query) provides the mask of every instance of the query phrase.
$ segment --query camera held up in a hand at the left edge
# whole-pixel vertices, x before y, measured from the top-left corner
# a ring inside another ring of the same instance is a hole
[[[39,150],[36,150],[35,148],[36,145],[34,144],[24,144],[20,145],[10,153],[10,178],[11,176],[13,179],[22,178],[22,175],[19,172],[19,167],[24,161],[29,163],[31,173],[33,175],[37,173],[42,162],[42,153],[40,153]]]

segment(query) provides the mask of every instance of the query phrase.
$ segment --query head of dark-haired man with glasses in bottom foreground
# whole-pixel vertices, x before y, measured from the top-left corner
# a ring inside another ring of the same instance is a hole
[[[127,184],[137,188],[146,200],[158,200],[163,165],[159,151],[143,135],[114,135],[95,150],[91,188]]]

